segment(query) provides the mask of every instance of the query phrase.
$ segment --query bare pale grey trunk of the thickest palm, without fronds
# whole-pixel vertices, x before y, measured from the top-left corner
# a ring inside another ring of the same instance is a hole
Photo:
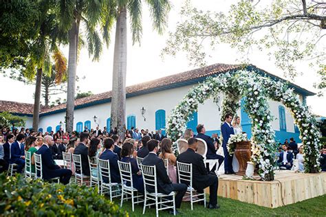
[[[126,73],[127,10],[122,8],[116,21],[111,100],[111,129],[117,127],[121,139],[124,139],[126,129]]]

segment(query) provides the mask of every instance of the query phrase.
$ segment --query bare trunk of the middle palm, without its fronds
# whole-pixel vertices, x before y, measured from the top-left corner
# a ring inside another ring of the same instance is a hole
[[[77,68],[77,46],[80,21],[74,21],[72,29],[69,30],[69,60],[67,80],[67,111],[66,130],[72,133],[74,130],[74,104],[76,89],[76,68]]]

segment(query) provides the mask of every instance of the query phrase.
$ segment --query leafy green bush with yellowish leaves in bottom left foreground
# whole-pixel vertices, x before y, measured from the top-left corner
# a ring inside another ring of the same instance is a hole
[[[0,176],[0,216],[128,216],[86,186]]]

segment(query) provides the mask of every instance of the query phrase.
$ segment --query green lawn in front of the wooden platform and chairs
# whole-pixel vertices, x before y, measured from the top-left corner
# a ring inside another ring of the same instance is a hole
[[[120,200],[114,200],[120,204]],[[204,205],[194,205],[191,211],[190,203],[182,202],[179,216],[326,216],[326,194],[306,201],[270,209],[249,203],[235,201],[229,198],[218,198],[220,209],[205,209]],[[131,202],[124,201],[122,209],[129,212],[129,216],[142,216],[142,206],[135,205],[135,212],[131,211]],[[159,212],[160,216],[171,216],[166,211]],[[147,209],[144,216],[155,216],[155,209]]]

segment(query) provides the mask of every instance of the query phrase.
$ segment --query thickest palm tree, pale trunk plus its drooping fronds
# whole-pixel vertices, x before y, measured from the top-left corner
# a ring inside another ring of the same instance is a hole
[[[153,19],[153,29],[162,34],[166,27],[171,5],[168,0],[146,0]],[[112,9],[112,7],[111,7]],[[141,0],[117,0],[116,41],[113,57],[113,80],[111,99],[111,128],[117,127],[120,137],[124,137],[126,119],[126,72],[127,72],[127,13],[130,16],[133,44],[140,43],[142,37],[142,2]],[[111,12],[111,10],[107,10]],[[111,12],[112,14],[112,12]],[[107,16],[111,23],[112,16]],[[105,23],[106,24],[106,23]],[[108,25],[111,27],[110,25]],[[103,30],[108,31],[104,25]],[[106,34],[104,34],[106,36]]]

